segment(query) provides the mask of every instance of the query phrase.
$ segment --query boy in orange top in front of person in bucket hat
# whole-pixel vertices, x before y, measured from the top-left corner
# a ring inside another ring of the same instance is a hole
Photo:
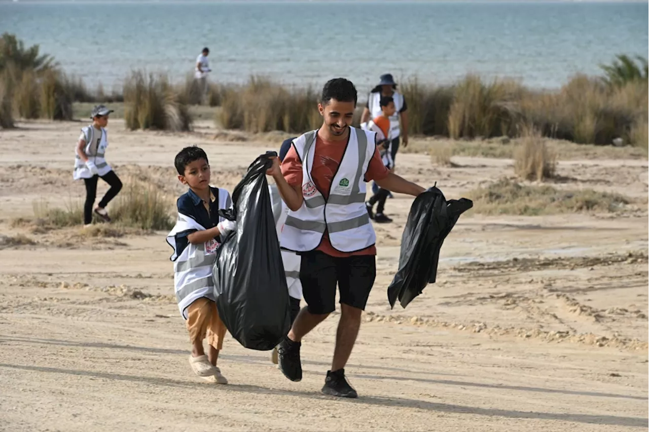
[[[391,96],[382,96],[380,99],[381,104],[381,115],[378,115],[375,119],[364,123],[361,125],[364,129],[371,130],[376,132],[376,147],[378,147],[378,152],[381,156],[386,168],[391,170],[394,166],[392,161],[392,137],[390,133],[390,116],[395,114],[395,101]],[[383,211],[386,207],[386,199],[390,191],[380,187],[374,195],[369,198],[369,201],[365,202],[365,207],[367,207],[367,213],[369,214],[370,219],[374,219],[374,222],[384,224],[392,222],[392,219],[387,217]],[[376,215],[374,215],[374,204],[378,203],[376,206]]]

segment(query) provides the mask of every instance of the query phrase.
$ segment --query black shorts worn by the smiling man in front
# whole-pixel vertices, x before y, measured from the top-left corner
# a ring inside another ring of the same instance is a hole
[[[320,315],[336,310],[336,285],[341,303],[365,309],[376,278],[374,255],[337,258],[313,250],[301,256],[302,296],[310,313]]]

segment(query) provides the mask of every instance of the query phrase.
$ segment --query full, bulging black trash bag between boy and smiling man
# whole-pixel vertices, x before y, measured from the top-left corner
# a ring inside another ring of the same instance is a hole
[[[232,207],[219,214],[237,222],[217,252],[214,293],[219,316],[245,348],[271,350],[291,325],[288,287],[266,170],[268,152],[248,167],[232,192]]]

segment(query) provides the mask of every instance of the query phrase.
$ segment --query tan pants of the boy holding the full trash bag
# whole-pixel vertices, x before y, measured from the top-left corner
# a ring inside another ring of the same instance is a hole
[[[216,303],[201,297],[194,300],[187,308],[187,330],[190,342],[202,341],[207,336],[208,343],[217,350],[223,348],[223,339],[227,328],[216,309]]]

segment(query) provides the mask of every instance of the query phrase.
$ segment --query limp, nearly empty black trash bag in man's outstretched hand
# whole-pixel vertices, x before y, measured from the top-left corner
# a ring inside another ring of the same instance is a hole
[[[472,207],[473,202],[467,198],[447,202],[437,187],[430,187],[415,198],[401,236],[399,269],[387,287],[387,300],[392,308],[397,298],[405,308],[428,283],[435,282],[444,239],[459,215]]]

